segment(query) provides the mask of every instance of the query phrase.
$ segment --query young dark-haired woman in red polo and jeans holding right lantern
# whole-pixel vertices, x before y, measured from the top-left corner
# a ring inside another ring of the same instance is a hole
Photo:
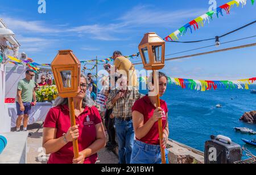
[[[152,76],[148,80],[152,80]],[[166,91],[167,80],[167,76],[164,73],[159,72],[160,97],[162,97]],[[154,80],[152,80],[152,84],[154,84]],[[132,110],[136,140],[131,154],[131,164],[160,164],[162,162],[158,119],[162,118],[163,120],[162,144],[164,149],[166,149],[169,130],[167,122],[167,104],[160,99],[160,106],[161,107],[156,108],[156,99],[154,96],[150,95],[146,95],[134,103]],[[166,149],[166,158],[167,155]]]

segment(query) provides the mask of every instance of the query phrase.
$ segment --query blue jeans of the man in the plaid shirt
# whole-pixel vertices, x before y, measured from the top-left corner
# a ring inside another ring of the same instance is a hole
[[[115,129],[118,140],[119,164],[130,164],[134,142],[133,120],[124,121],[115,118]]]

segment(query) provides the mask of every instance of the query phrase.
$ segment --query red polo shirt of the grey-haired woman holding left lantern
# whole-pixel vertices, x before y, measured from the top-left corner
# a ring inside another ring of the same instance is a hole
[[[88,148],[96,140],[96,124],[101,123],[101,116],[96,107],[85,107],[83,113],[76,117],[76,124],[79,124],[79,151]],[[71,127],[69,109],[67,105],[60,105],[49,110],[44,121],[45,128],[57,128],[56,138],[61,138]],[[59,151],[52,153],[48,164],[72,164],[74,157],[73,144],[69,142]],[[95,164],[97,154],[87,157],[85,164]]]

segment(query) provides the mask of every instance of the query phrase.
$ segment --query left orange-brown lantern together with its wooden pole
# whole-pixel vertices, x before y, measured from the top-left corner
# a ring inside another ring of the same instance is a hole
[[[76,125],[75,107],[73,97],[76,97],[80,86],[81,63],[73,51],[59,51],[51,64],[53,76],[56,81],[58,94],[62,98],[68,98],[71,126]],[[75,158],[79,157],[77,139],[73,141]]]

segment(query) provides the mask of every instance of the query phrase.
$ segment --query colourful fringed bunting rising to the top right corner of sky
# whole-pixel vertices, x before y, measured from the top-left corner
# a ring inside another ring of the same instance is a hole
[[[210,23],[209,18],[212,20],[214,14],[217,15],[217,18],[220,15],[223,16],[223,11],[222,10],[225,10],[226,14],[229,14],[230,10],[232,9],[232,7],[234,7],[234,5],[239,7],[240,3],[241,3],[242,7],[243,7],[243,6],[246,5],[246,2],[247,2],[247,0],[233,0],[233,1],[230,1],[228,3],[225,3],[224,5],[222,5],[220,7],[217,7],[217,9],[214,9],[212,11],[208,11],[204,15],[201,15],[198,18],[193,19],[191,22],[185,24],[185,26],[179,28],[179,30],[176,30],[171,35],[168,35],[166,38],[164,38],[164,40],[165,41],[174,41],[174,40],[176,41],[176,40],[179,40],[178,36],[185,35],[188,30],[191,31],[191,33],[192,33],[192,27],[196,31],[200,27],[204,27],[205,22],[208,21],[208,23]],[[254,5],[254,0],[251,0],[251,3]]]

